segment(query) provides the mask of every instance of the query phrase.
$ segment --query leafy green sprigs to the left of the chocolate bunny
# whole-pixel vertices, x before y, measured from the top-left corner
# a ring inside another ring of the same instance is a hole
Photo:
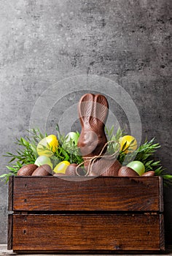
[[[74,145],[72,140],[69,140],[66,143],[65,136],[60,134],[60,130],[57,124],[57,137],[58,137],[58,148],[53,153],[52,157],[50,157],[52,161],[53,167],[58,165],[61,161],[69,161],[70,163],[81,163],[83,162],[82,157],[79,155],[79,150],[77,146]],[[27,130],[28,131],[28,130]],[[47,133],[44,135],[40,132],[39,129],[31,129],[29,132],[29,137],[25,138],[16,138],[15,144],[17,145],[17,149],[15,154],[7,152],[4,157],[9,157],[9,164],[7,165],[7,169],[9,173],[4,173],[0,176],[0,178],[5,179],[6,182],[9,180],[9,176],[16,176],[17,171],[20,170],[23,165],[34,164],[36,158],[39,157],[36,151],[36,146],[40,140],[47,137]],[[47,147],[42,145],[42,147],[46,150],[51,150],[48,145]]]

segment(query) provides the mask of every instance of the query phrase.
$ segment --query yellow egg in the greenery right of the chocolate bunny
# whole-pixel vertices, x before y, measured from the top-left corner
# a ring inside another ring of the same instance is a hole
[[[125,154],[131,153],[137,149],[137,140],[131,135],[125,135],[120,138],[120,151]]]

